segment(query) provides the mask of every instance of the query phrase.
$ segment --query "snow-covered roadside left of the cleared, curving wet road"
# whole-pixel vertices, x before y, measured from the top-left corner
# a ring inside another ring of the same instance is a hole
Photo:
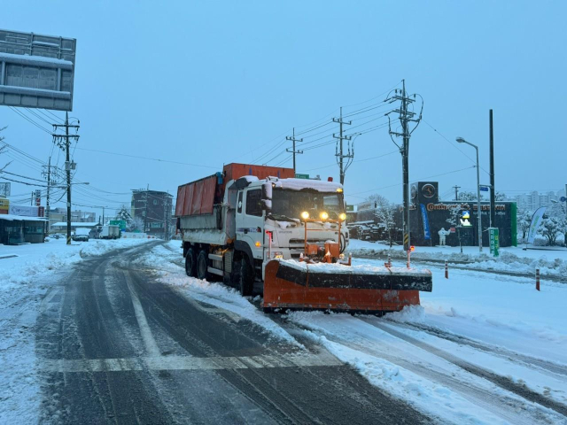
[[[40,406],[35,368],[35,319],[42,298],[65,267],[146,240],[91,240],[66,245],[0,245],[0,423],[34,423]]]

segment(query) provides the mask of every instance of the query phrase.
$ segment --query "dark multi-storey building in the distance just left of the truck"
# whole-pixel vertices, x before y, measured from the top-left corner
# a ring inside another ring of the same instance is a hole
[[[173,196],[159,190],[132,190],[130,214],[136,220],[144,221],[145,233],[169,239],[172,231],[171,222]]]

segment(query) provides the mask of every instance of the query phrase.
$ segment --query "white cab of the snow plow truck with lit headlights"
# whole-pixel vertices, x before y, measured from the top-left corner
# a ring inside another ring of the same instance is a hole
[[[274,177],[260,181],[247,177],[245,181],[235,182],[235,186],[235,248],[245,253],[260,279],[263,280],[263,266],[270,259],[299,259],[306,243],[306,225],[308,243],[323,247],[325,242],[333,241],[339,243],[341,252],[345,251],[346,226],[323,218],[308,224],[302,220],[321,216],[345,220],[340,184]]]

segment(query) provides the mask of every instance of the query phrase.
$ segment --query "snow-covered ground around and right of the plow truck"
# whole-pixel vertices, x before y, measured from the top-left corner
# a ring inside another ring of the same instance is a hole
[[[154,248],[144,261],[159,264],[161,281],[183,296],[255,321],[275,337],[322,344],[370,383],[442,422],[567,423],[563,283],[543,280],[538,292],[528,278],[452,270],[447,280],[442,267],[432,267],[433,291],[401,313],[270,316],[236,290],[185,276],[177,241]],[[369,267],[383,262],[354,260]]]

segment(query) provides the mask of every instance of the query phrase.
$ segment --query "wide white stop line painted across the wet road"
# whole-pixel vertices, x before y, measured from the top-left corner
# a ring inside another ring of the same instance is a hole
[[[325,354],[294,354],[290,357],[140,357],[129,359],[41,359],[40,368],[50,373],[128,372],[136,370],[224,370],[276,367],[332,367],[343,363]]]

